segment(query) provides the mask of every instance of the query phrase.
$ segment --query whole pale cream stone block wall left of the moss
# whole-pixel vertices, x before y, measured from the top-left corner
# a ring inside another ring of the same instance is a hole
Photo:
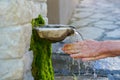
[[[0,80],[33,80],[30,22],[38,14],[48,23],[46,0],[0,0]]]

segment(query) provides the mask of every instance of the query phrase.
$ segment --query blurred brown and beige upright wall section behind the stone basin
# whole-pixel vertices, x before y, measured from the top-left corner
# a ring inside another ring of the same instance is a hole
[[[68,24],[79,0],[48,0],[49,24]]]

